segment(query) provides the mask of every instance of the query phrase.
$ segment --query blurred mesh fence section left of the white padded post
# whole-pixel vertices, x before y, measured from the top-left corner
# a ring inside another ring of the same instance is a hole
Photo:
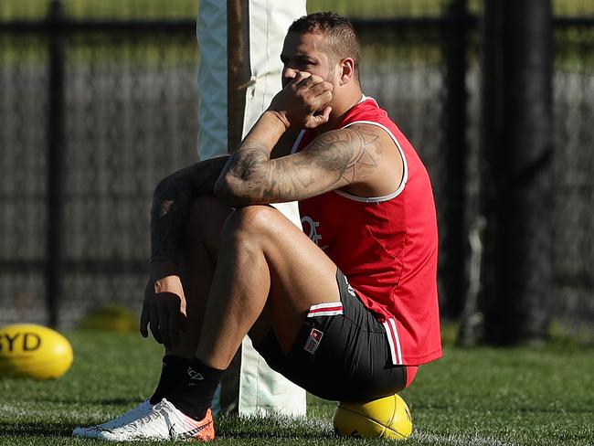
[[[64,3],[66,12],[77,5]],[[154,186],[196,161],[193,19],[166,23],[170,11],[153,25],[133,16],[115,27],[104,6],[96,13],[109,20],[65,15],[58,28],[27,22],[0,35],[2,323],[68,325],[105,303],[136,311]]]

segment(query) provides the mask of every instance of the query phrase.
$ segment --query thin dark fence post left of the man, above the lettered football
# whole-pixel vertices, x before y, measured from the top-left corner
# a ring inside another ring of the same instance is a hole
[[[51,0],[48,9],[48,241],[46,299],[49,325],[58,325],[62,291],[64,209],[64,5]]]

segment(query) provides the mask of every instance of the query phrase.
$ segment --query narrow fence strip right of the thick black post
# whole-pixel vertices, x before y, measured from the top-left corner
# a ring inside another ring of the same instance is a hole
[[[594,20],[555,33],[553,311],[574,334],[594,321]]]

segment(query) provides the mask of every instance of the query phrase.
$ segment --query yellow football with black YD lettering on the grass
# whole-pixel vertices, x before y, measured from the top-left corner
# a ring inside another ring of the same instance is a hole
[[[61,377],[72,357],[68,339],[51,328],[37,324],[0,328],[0,377]]]

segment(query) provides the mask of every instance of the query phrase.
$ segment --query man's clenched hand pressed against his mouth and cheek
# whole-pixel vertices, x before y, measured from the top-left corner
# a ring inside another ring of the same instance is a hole
[[[274,112],[287,129],[313,129],[328,122],[333,85],[305,71],[295,77],[271,101]]]

